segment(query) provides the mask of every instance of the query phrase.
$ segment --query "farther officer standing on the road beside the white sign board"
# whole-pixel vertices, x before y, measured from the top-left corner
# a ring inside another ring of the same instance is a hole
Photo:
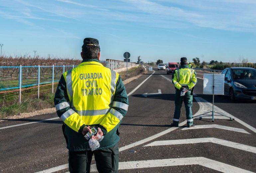
[[[196,72],[188,67],[186,57],[181,58],[181,66],[177,68],[172,75],[172,83],[175,86],[175,111],[172,127],[179,127],[182,102],[184,100],[186,108],[186,117],[188,127],[192,127],[192,101],[193,101],[193,88],[197,83]]]

